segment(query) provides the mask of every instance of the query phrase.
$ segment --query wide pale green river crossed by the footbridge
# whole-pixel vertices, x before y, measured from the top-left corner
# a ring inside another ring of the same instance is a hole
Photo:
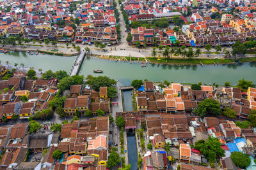
[[[26,67],[35,67],[47,71],[65,70],[68,73],[74,64],[76,57],[60,57],[54,55],[29,55],[25,52],[0,53],[2,63],[9,61],[23,63]],[[103,74],[93,73],[93,69],[102,69]],[[88,74],[93,76],[106,75],[115,80],[119,79],[120,85],[131,85],[134,79],[147,79],[150,81],[173,81],[179,83],[218,83],[223,85],[225,81],[230,81],[233,85],[238,80],[244,78],[256,83],[256,63],[244,64],[225,64],[225,65],[204,65],[202,66],[177,66],[166,64],[147,64],[141,67],[140,64],[133,62],[115,62],[113,60],[99,59],[96,57],[84,58],[79,74],[85,77]]]

